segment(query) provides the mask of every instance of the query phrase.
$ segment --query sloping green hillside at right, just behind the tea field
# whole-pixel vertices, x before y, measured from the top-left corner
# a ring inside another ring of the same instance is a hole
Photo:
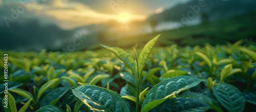
[[[162,34],[158,44],[160,46],[171,44],[195,46],[205,43],[215,45],[225,44],[226,41],[236,42],[237,40],[250,38],[252,41],[255,41],[255,14],[256,12],[251,12],[197,26],[181,27],[179,29],[180,32],[178,32],[177,29],[166,30],[151,34],[125,37],[114,41],[106,41],[101,44],[109,46],[116,45],[122,48],[134,46],[135,43],[138,43],[138,46],[140,46],[160,33]]]

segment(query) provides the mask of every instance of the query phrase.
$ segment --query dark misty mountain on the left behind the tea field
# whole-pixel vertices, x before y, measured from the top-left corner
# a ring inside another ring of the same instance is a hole
[[[16,51],[77,51],[92,46],[94,38],[87,38],[77,30],[63,30],[55,24],[42,25],[38,19],[15,21],[7,28],[0,21],[0,49]],[[78,45],[79,44],[79,45]]]

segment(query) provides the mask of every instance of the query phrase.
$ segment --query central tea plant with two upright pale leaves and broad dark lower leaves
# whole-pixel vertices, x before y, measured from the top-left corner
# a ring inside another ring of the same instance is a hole
[[[136,50],[133,48],[135,60],[131,55],[129,55],[128,53],[126,53],[120,48],[117,48],[117,47],[112,48],[112,47],[102,45],[104,48],[114,53],[132,71],[137,83],[136,92],[133,92],[136,94],[135,96],[125,95],[124,98],[130,99],[136,102],[136,111],[139,111],[140,102],[142,102],[141,111],[149,111],[157,107],[167,99],[175,97],[176,94],[182,91],[185,91],[188,88],[196,86],[201,81],[204,81],[195,77],[188,77],[188,76],[168,78],[161,81],[157,85],[155,85],[149,92],[146,92],[147,90],[146,88],[144,91],[140,93],[140,82],[141,82],[141,76],[142,76],[141,74],[142,74],[144,65],[146,63],[146,60],[148,56],[150,56],[150,53],[159,36],[160,35],[156,36],[145,45],[139,57],[137,56]],[[129,106],[126,105],[125,101],[123,101],[119,95],[115,94],[112,91],[108,91],[107,89],[97,87],[97,86],[92,86],[92,85],[86,85],[86,86],[81,86],[76,89],[73,89],[72,91],[74,95],[78,97],[81,101],[83,101],[84,104],[90,107],[91,110],[130,111]],[[146,96],[145,98],[143,98],[144,95]],[[189,100],[193,101],[193,99],[189,99]],[[195,108],[198,108],[198,110],[206,110],[208,108],[207,106],[202,105],[200,103],[196,103],[196,104],[197,106]],[[205,107],[199,108],[201,106],[205,106]],[[193,109],[193,108],[187,107],[185,109]]]

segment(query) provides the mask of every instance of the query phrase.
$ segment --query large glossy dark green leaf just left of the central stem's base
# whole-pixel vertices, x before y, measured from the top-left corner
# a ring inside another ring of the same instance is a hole
[[[73,94],[92,111],[129,112],[126,103],[116,93],[94,85],[72,89]]]

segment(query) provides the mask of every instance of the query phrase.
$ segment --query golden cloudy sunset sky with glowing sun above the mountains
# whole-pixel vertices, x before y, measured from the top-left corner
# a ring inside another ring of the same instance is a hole
[[[38,19],[42,24],[55,24],[61,29],[107,23],[110,20],[125,22],[144,20],[147,16],[160,13],[166,8],[190,0],[1,0],[1,18],[12,17],[12,9],[20,10],[14,21]],[[25,8],[23,10],[23,8]],[[20,19],[20,20],[19,20]],[[4,18],[6,21],[10,20]],[[13,22],[9,21],[11,26]]]

